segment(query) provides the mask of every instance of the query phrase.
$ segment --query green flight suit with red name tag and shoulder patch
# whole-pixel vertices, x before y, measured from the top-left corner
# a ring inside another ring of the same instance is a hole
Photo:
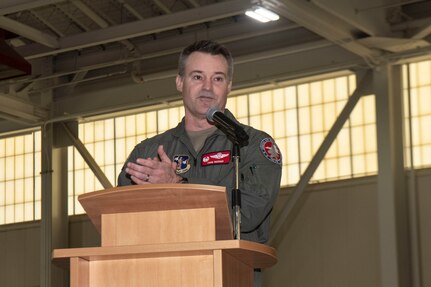
[[[225,115],[236,121],[228,110]],[[266,243],[270,213],[280,190],[281,154],[268,134],[242,126],[250,138],[249,145],[240,150],[241,239]],[[211,134],[197,153],[187,136],[183,119],[177,127],[136,145],[127,162],[156,157],[159,145],[163,145],[169,158],[177,162],[177,174],[187,178],[189,183],[225,186],[231,200],[235,188],[234,164],[230,160],[233,144],[222,131]],[[118,176],[118,185],[134,184],[124,170],[125,165]]]

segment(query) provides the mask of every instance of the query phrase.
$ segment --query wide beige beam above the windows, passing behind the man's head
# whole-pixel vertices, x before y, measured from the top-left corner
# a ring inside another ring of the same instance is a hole
[[[280,81],[297,79],[339,71],[340,69],[358,68],[363,61],[356,55],[325,41],[321,45],[310,44],[309,50],[297,53],[300,49],[286,51],[271,50],[256,55],[259,61],[253,61],[255,55],[235,57],[235,81],[233,89],[250,88],[259,85],[274,85]],[[313,50],[317,48],[316,50]],[[296,52],[296,53],[295,53]],[[270,58],[271,55],[277,57]],[[73,97],[61,97],[56,101],[56,114],[70,118],[91,116],[104,113],[136,109],[160,103],[180,100],[175,90],[177,70],[145,74],[143,85],[136,84],[130,75],[105,79],[91,85],[79,85]],[[121,97],[118,95],[121,94]]]

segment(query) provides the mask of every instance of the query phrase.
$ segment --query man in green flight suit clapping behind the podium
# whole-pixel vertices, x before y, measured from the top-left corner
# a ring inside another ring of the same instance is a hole
[[[186,47],[180,55],[176,77],[185,116],[177,127],[145,139],[134,148],[118,184],[218,185],[227,188],[230,200],[235,188],[233,144],[207,120],[206,113],[215,107],[238,123],[225,109],[232,76],[233,59],[225,47],[207,40]],[[249,144],[240,149],[240,237],[266,243],[270,213],[280,189],[281,154],[268,134],[241,126],[249,135]]]

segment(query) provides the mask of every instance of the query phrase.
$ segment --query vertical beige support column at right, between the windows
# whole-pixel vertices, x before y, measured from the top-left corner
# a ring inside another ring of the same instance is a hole
[[[403,161],[402,75],[400,66],[374,70],[376,95],[377,204],[381,287],[411,286],[408,198]]]

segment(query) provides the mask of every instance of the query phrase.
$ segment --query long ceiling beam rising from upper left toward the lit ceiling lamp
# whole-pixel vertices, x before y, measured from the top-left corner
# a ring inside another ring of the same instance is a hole
[[[249,0],[233,0],[203,6],[195,9],[153,17],[101,30],[61,38],[60,47],[40,52],[38,57],[58,54],[86,47],[92,47],[130,38],[151,35],[185,26],[205,23],[217,19],[242,14],[250,7]],[[30,59],[29,57],[28,59]]]

